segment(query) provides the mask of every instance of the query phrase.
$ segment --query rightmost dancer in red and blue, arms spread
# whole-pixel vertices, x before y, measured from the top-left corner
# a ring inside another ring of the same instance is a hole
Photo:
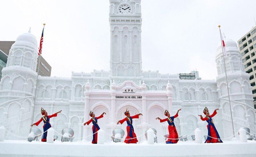
[[[220,139],[220,135],[219,135],[218,131],[216,130],[216,128],[213,124],[213,121],[212,121],[212,117],[217,114],[217,112],[216,112],[217,110],[219,110],[219,108],[215,109],[213,114],[210,115],[208,108],[205,107],[203,112],[206,116],[203,118],[202,115],[198,115],[198,116],[200,116],[202,121],[206,121],[208,123],[208,125],[207,125],[208,136],[204,143],[223,143],[222,140]]]

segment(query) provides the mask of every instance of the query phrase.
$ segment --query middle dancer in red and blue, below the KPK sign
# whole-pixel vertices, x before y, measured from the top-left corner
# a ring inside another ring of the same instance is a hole
[[[132,119],[139,118],[139,115],[142,115],[142,114],[136,114],[134,116],[130,116],[129,111],[127,111],[127,108],[126,108],[124,115],[126,115],[126,117],[117,122],[117,124],[119,124],[119,123],[123,124],[125,121],[127,122],[127,127],[126,127],[127,136],[125,137],[124,143],[127,143],[127,144],[137,143],[138,140],[136,138],[136,134],[134,133],[134,129],[132,126]],[[133,138],[133,139],[129,139],[129,138]]]

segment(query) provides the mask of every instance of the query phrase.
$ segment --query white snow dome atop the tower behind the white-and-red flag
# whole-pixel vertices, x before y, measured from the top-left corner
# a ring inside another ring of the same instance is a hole
[[[238,52],[238,53],[240,53],[240,51],[237,48],[237,44],[236,44],[236,42],[234,40],[224,38],[224,43],[225,43],[225,49],[226,49],[227,53],[228,52]],[[219,43],[218,46],[217,46],[217,54],[216,54],[216,56],[219,56],[220,54],[222,54],[221,43]]]

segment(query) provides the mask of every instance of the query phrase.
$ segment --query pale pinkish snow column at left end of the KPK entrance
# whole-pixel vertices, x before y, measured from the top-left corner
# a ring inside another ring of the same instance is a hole
[[[84,122],[87,122],[89,119],[88,119],[88,114],[89,114],[89,99],[90,99],[90,89],[91,89],[91,85],[90,85],[90,82],[89,80],[87,80],[85,86],[85,92],[84,92],[84,95],[85,95],[85,100],[84,100]],[[84,126],[84,133],[83,133],[83,140],[86,140],[86,127]]]

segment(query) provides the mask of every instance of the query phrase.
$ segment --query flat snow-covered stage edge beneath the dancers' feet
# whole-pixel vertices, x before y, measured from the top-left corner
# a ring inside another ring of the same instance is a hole
[[[256,141],[241,143],[196,144],[192,141],[177,144],[148,145],[108,142],[104,145],[89,142],[54,143],[4,140],[0,156],[256,156]]]

